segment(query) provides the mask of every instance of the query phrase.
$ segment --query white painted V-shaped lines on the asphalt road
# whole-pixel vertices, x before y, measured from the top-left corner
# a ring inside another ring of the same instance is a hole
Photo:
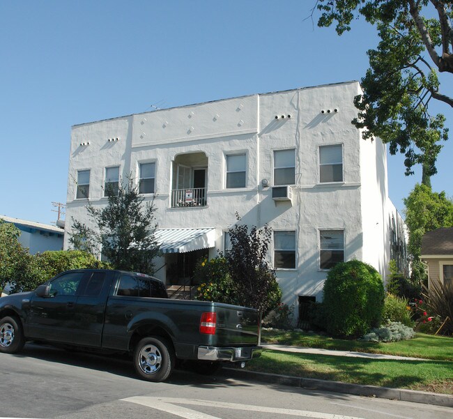
[[[236,403],[224,403],[215,402],[210,400],[199,400],[199,399],[178,399],[176,397],[128,397],[127,399],[121,399],[122,402],[130,402],[135,404],[141,404],[142,406],[152,407],[167,413],[173,413],[176,416],[180,416],[185,419],[220,419],[216,416],[209,416],[204,413],[194,411],[192,409],[186,409],[181,406],[175,406],[175,404],[188,404],[189,406],[207,406],[217,407],[222,409],[231,410],[243,410],[243,411],[254,411],[260,413],[275,413],[279,415],[298,416],[300,418],[316,418],[316,419],[362,419],[355,416],[343,416],[335,413],[319,413],[295,409],[278,409],[275,407],[265,406],[253,406],[251,404],[236,404]]]

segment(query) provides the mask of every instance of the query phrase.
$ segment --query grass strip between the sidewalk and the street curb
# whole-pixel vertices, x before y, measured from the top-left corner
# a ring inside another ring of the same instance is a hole
[[[309,379],[453,394],[450,361],[370,360],[265,350],[246,368]]]

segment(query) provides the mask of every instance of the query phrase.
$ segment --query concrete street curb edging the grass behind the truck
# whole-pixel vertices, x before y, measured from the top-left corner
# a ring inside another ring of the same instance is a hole
[[[376,386],[360,386],[358,384],[341,383],[339,381],[327,381],[319,379],[304,379],[295,376],[269,374],[267,372],[255,372],[225,368],[231,377],[239,379],[254,379],[264,383],[281,384],[309,390],[324,390],[334,393],[346,393],[350,395],[381,397],[383,399],[401,400],[404,402],[433,404],[436,406],[453,407],[453,396],[438,393],[427,393],[404,388],[387,388]]]

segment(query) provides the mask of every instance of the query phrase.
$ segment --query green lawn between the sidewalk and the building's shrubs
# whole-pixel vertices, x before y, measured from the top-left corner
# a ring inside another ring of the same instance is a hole
[[[317,335],[316,333],[263,330],[261,343],[337,349],[339,351],[385,353],[387,355],[453,361],[453,337],[424,335],[423,333],[417,333],[415,339],[411,340],[373,343],[360,342],[358,340],[334,339],[332,337]]]

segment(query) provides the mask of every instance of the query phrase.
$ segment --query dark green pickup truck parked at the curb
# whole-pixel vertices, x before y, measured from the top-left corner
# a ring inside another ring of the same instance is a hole
[[[170,300],[148,275],[80,269],[0,298],[0,351],[33,340],[128,352],[142,378],[163,381],[176,361],[209,372],[259,356],[260,320],[251,308]]]

